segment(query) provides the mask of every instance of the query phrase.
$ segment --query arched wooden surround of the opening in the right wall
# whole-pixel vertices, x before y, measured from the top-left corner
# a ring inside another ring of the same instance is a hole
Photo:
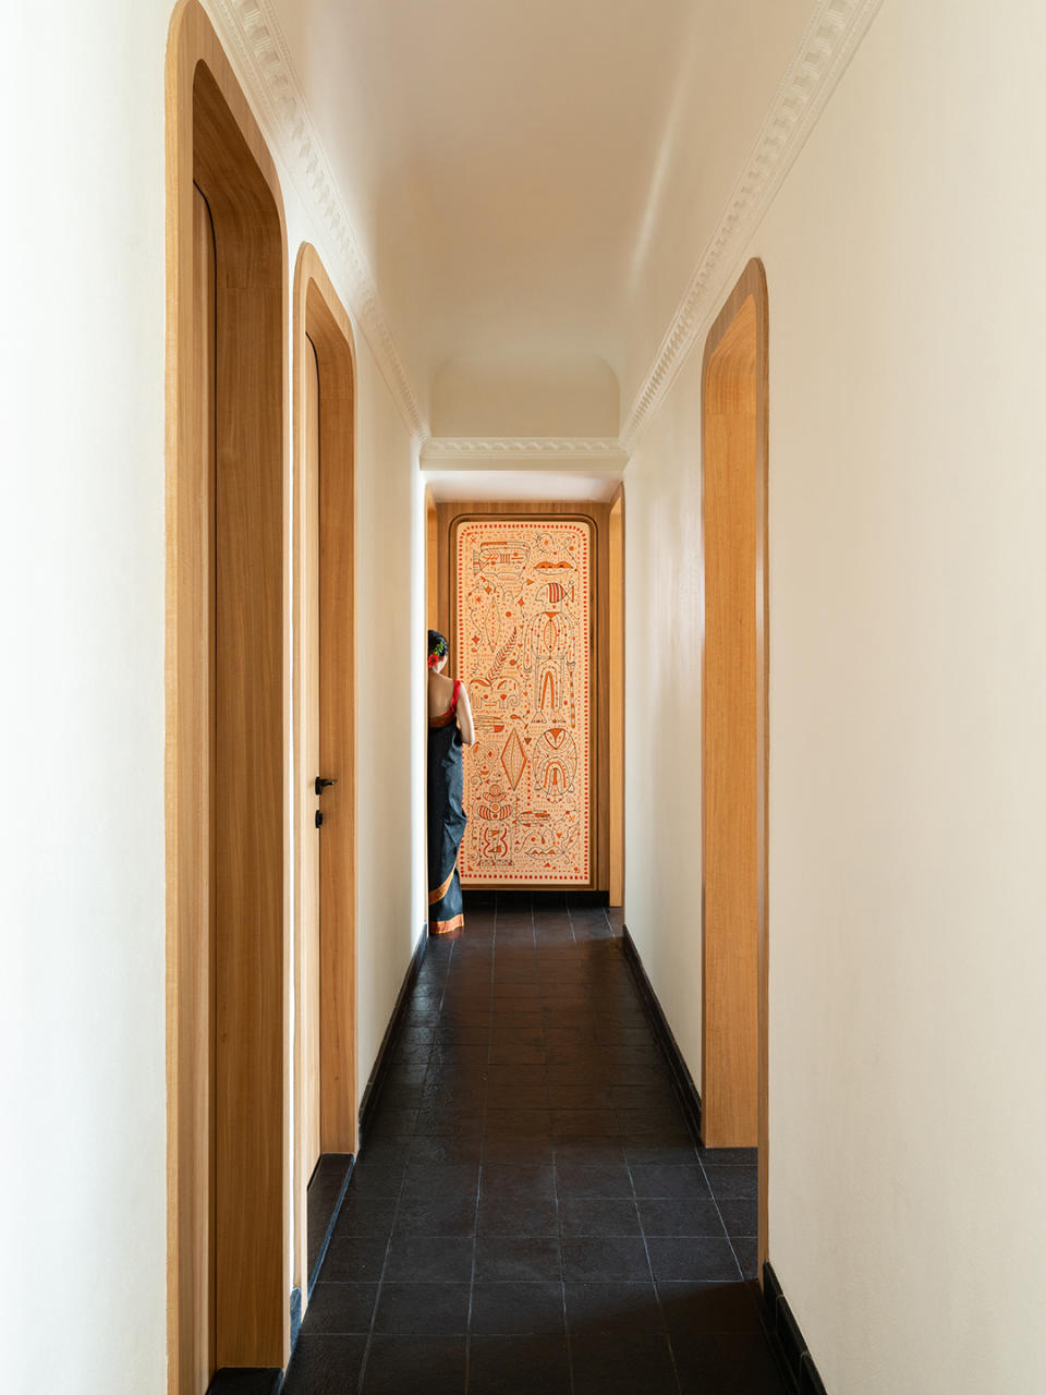
[[[767,289],[750,261],[713,325],[702,379],[703,1050],[708,1147],[767,1136]]]

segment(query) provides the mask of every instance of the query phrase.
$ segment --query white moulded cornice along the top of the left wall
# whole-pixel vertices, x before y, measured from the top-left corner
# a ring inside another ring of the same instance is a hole
[[[424,439],[428,424],[382,311],[367,258],[338,193],[269,0],[204,0],[204,4],[271,141],[273,155],[290,174],[315,226],[325,233],[321,240],[331,279],[365,335],[407,430],[416,442]]]

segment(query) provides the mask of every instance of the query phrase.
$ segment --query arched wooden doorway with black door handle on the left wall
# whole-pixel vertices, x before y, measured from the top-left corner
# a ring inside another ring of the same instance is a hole
[[[358,1099],[356,349],[310,244],[294,269],[294,1281],[307,1297],[308,1179],[321,1152],[357,1151]],[[318,774],[338,780],[319,798]]]

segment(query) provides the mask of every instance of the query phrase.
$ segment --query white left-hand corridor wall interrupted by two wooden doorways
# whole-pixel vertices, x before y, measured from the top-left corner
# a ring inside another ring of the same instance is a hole
[[[166,1388],[169,18],[20,6],[3,46],[0,1313],[20,1395]],[[282,181],[290,276],[324,243]],[[358,331],[357,352],[365,1081],[424,921],[424,670],[416,452]]]

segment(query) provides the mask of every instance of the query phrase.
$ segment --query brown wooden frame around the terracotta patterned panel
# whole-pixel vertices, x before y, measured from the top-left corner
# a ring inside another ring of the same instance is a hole
[[[615,502],[618,502],[615,497]],[[591,654],[591,749],[590,749],[590,805],[591,805],[591,880],[590,889],[609,891],[611,887],[623,886],[623,794],[618,794],[621,801],[621,817],[614,822],[611,816],[614,791],[621,791],[621,784],[615,785],[615,771],[611,769],[611,728],[616,725],[623,731],[623,633],[614,633],[611,629],[611,585],[623,580],[623,551],[619,551],[616,562],[612,559],[611,538],[615,538],[618,548],[623,547],[623,530],[615,533],[611,523],[614,504],[598,502],[570,502],[558,499],[510,504],[510,502],[441,502],[437,504],[435,537],[439,552],[438,578],[438,615],[441,629],[450,644],[450,656],[456,653],[457,635],[455,631],[455,617],[450,600],[455,586],[455,548],[457,540],[457,525],[476,519],[522,519],[534,522],[536,519],[577,519],[589,523],[594,531],[594,568],[591,576],[591,605],[593,605],[593,654]],[[623,504],[622,504],[623,508]],[[621,518],[622,515],[619,515]],[[618,612],[618,619],[623,621],[623,610]],[[452,667],[455,667],[452,664]],[[615,717],[618,703],[622,704],[619,717]],[[623,769],[623,767],[622,767]],[[611,836],[614,830],[614,837]],[[569,890],[570,887],[565,887]],[[583,890],[576,887],[576,890]]]

